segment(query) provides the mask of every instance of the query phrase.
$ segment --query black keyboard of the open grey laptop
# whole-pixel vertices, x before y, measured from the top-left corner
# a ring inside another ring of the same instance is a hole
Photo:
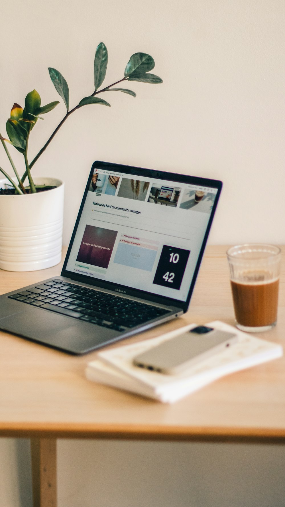
[[[127,331],[170,311],[60,279],[8,297],[116,331]]]

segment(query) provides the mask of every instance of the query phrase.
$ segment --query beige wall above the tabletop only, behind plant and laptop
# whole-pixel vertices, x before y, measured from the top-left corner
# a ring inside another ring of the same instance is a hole
[[[154,57],[164,80],[129,83],[135,99],[103,94],[111,108],[83,107],[34,166],[65,180],[65,243],[95,159],[222,179],[210,242],[285,242],[282,0],[2,0],[0,19],[1,132],[13,102],[33,88],[43,103],[58,99],[48,66],[65,77],[71,106],[91,94],[100,41],[109,50],[106,84],[123,77],[137,51]],[[61,100],[38,122],[30,158],[64,112]]]

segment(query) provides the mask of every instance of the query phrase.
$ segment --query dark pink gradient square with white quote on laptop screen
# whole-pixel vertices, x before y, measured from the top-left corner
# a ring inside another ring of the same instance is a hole
[[[108,268],[117,231],[87,225],[79,248],[77,261]]]

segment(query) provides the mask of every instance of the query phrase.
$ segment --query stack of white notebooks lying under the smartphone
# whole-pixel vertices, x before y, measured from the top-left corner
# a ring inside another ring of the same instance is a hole
[[[217,320],[205,325],[235,332],[238,342],[187,371],[177,375],[165,375],[132,364],[133,357],[138,353],[169,340],[178,333],[185,333],[196,325],[190,324],[180,328],[179,332],[175,330],[157,338],[99,352],[98,358],[88,363],[86,377],[88,380],[148,396],[163,403],[173,403],[220,377],[282,356],[281,345],[243,333]]]

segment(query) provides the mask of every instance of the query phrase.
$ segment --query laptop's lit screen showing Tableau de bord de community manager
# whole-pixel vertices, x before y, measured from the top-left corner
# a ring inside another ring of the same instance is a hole
[[[185,302],[221,186],[95,162],[65,270]]]

